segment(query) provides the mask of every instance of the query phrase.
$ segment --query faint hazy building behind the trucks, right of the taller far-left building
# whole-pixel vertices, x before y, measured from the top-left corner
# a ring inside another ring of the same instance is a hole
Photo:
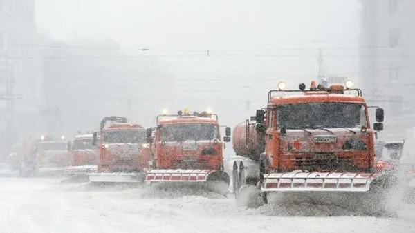
[[[99,130],[106,116],[127,117],[145,127],[174,98],[172,77],[151,57],[129,55],[111,40],[54,41],[42,62],[48,134],[73,136]]]

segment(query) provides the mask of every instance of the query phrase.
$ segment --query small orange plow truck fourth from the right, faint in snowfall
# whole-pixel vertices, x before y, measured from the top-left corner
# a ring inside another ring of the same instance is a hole
[[[87,173],[97,172],[98,148],[92,143],[93,134],[75,136],[71,147],[73,164],[65,169],[65,174],[70,179],[87,179]]]

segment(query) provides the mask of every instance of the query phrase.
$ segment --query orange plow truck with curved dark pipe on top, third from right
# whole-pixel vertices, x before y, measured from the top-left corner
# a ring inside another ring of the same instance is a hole
[[[107,125],[107,121],[111,121]],[[125,117],[104,117],[100,137],[93,133],[99,147],[97,172],[88,173],[91,183],[142,183],[151,157],[146,129],[127,123]]]

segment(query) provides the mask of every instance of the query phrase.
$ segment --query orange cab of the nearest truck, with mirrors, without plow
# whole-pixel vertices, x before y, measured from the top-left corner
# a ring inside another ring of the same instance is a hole
[[[281,85],[281,84],[280,84]],[[299,85],[301,90],[304,84]],[[343,86],[301,92],[268,93],[268,106],[257,111],[264,134],[264,172],[370,172],[374,168],[374,132],[382,130],[383,110],[369,125],[368,106],[358,89]],[[275,95],[273,95],[275,94]]]

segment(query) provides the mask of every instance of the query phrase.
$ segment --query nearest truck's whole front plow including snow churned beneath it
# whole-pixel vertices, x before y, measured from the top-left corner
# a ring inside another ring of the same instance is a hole
[[[396,207],[389,203],[393,186],[388,174],[294,171],[264,174],[261,193],[335,205],[356,214],[395,217]]]

